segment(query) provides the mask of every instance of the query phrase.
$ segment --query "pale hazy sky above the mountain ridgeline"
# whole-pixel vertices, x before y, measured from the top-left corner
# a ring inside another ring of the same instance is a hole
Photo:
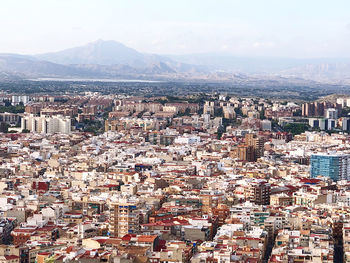
[[[142,52],[350,57],[349,0],[1,0],[0,53],[116,40]]]

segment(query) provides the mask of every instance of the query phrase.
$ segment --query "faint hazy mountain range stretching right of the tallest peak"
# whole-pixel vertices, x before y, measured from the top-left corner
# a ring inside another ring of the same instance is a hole
[[[319,82],[350,84],[349,58],[236,57],[230,54],[169,55],[181,63],[208,67],[212,71],[303,78]]]

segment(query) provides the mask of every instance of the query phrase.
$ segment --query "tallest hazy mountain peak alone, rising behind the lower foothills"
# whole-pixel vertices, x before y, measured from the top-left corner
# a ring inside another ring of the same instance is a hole
[[[98,40],[81,47],[35,56],[38,59],[63,65],[79,65],[103,72],[116,70],[138,74],[162,74],[197,71],[193,65],[175,62],[155,54],[144,54],[116,41]],[[93,66],[91,66],[93,65]]]

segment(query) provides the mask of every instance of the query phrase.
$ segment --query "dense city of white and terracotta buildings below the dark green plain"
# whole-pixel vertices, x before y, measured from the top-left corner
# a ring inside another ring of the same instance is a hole
[[[350,97],[0,94],[0,261],[350,261]]]

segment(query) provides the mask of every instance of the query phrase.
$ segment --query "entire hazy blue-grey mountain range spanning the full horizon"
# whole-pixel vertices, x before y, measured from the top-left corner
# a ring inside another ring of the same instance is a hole
[[[305,79],[350,84],[350,59],[144,54],[116,41],[33,56],[0,54],[0,80],[21,78]]]

